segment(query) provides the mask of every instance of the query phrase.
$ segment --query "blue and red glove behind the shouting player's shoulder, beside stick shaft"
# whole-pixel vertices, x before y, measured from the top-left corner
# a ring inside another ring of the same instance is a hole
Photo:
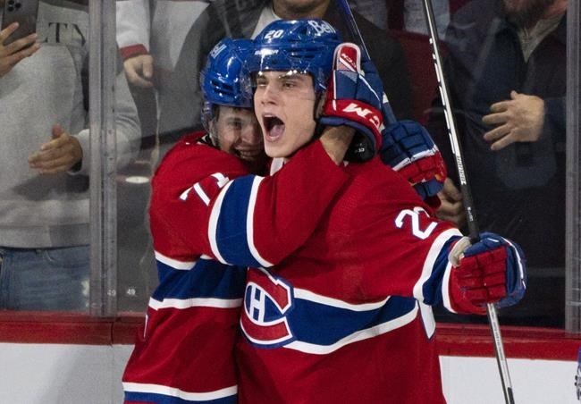
[[[415,121],[399,121],[385,127],[379,154],[383,163],[403,175],[422,199],[433,207],[440,206],[436,194],[443,188],[446,165],[422,125]]]

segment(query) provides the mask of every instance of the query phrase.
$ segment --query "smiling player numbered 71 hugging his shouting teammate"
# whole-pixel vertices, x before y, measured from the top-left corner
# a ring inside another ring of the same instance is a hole
[[[243,61],[250,46],[251,41],[242,39],[223,39],[215,46],[201,78],[207,133],[182,139],[165,156],[152,182],[151,231],[160,283],[122,378],[126,403],[237,400],[232,349],[246,268],[201,255],[210,248],[196,240],[206,237],[190,234],[203,227],[198,222],[206,217],[205,204],[214,190],[229,178],[265,170],[262,135],[244,74]],[[352,135],[350,128],[325,130],[320,141],[297,156],[297,164],[276,181],[262,181],[261,192],[267,195],[275,194],[273,189],[295,186],[316,189],[316,198],[298,198],[291,206],[282,206],[292,215],[302,212],[312,224],[271,223],[265,217],[257,226],[288,229],[290,236],[281,240],[290,251],[302,245],[348,178],[337,164]],[[301,180],[294,174],[306,173],[312,162],[324,166],[327,175]],[[189,203],[192,199],[202,201],[198,210]],[[270,203],[270,199],[258,198],[256,205],[266,210]]]

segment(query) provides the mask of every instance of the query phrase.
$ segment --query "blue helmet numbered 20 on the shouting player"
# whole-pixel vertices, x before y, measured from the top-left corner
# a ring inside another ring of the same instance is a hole
[[[248,70],[309,73],[315,90],[321,91],[327,87],[335,47],[341,42],[337,30],[320,19],[274,21],[255,38]]]

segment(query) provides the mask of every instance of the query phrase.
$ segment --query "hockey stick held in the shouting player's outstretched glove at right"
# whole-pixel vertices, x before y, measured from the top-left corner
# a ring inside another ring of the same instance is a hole
[[[467,215],[468,236],[471,242],[479,239],[478,223],[476,222],[476,212],[474,209],[474,201],[472,193],[467,183],[466,171],[464,169],[464,158],[462,150],[459,145],[458,132],[456,130],[456,122],[452,114],[450,105],[450,90],[444,79],[442,70],[442,58],[438,50],[438,30],[435,24],[434,9],[431,0],[424,0],[424,15],[430,31],[430,43],[432,45],[432,56],[434,59],[434,68],[440,88],[440,97],[442,97],[442,105],[444,107],[444,114],[446,123],[448,125],[448,136],[450,137],[450,144],[452,152],[456,158],[456,168],[458,169],[458,176],[460,181],[460,191],[462,192],[462,199]],[[514,404],[514,396],[512,394],[512,384],[510,383],[509,365],[504,355],[504,348],[502,346],[501,326],[496,316],[496,307],[492,303],[486,305],[486,313],[490,323],[491,332],[493,334],[494,350],[496,352],[496,363],[501,374],[502,391],[504,392],[504,400],[507,404]]]

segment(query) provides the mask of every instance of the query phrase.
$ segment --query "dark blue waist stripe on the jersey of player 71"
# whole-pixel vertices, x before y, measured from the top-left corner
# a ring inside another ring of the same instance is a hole
[[[163,299],[240,299],[244,296],[246,267],[224,265],[215,260],[198,259],[192,269],[177,270],[157,261],[161,282],[152,298]]]

